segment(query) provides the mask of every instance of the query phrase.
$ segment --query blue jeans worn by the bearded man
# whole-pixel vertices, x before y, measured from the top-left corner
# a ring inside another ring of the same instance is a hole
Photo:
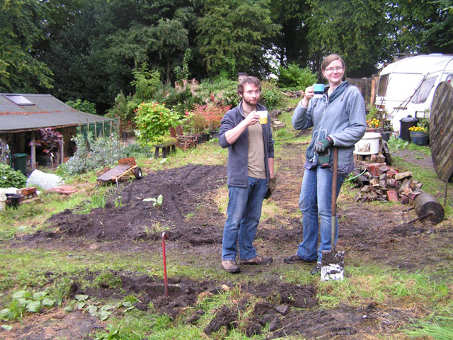
[[[236,260],[238,239],[239,258],[246,261],[256,257],[256,249],[252,243],[268,188],[266,179],[248,177],[247,183],[247,188],[228,187],[229,201],[226,208],[228,217],[222,240],[222,260]]]

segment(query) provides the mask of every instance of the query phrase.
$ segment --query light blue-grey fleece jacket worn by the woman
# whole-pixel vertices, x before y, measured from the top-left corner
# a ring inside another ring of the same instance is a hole
[[[330,97],[327,96],[328,86],[323,98],[311,98],[308,108],[297,105],[292,115],[292,126],[303,130],[313,126],[311,143],[306,149],[306,161],[316,164],[318,154],[314,145],[318,140],[330,136],[333,145],[338,147],[338,168],[354,164],[354,145],[367,128],[365,102],[357,87],[343,81]],[[332,152],[331,164],[332,164]]]

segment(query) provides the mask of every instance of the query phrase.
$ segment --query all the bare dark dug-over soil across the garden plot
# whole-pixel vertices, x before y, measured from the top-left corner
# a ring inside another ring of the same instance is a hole
[[[277,190],[270,200],[277,206],[277,213],[263,218],[256,234],[258,252],[273,256],[273,264],[243,268],[246,276],[239,283],[197,282],[172,277],[168,297],[163,296],[164,284],[160,279],[112,271],[112,276],[121,281],[120,289],[108,285],[83,289],[74,283],[71,295],[86,294],[98,299],[139,296],[139,302],[135,304],[139,310],[147,310],[152,302],[156,312],[171,317],[178,317],[187,307],[194,307],[195,312],[185,317],[188,322],[196,324],[203,314],[197,309],[200,298],[236,288],[245,297],[234,303],[234,307],[220,307],[205,328],[205,334],[212,334],[222,327],[239,327],[243,334],[252,336],[260,334],[265,324],[270,326],[267,339],[289,335],[300,335],[304,339],[365,339],[365,334],[391,334],[408,319],[416,318],[417,312],[398,306],[389,310],[372,300],[361,307],[342,305],[333,310],[321,310],[314,285],[285,283],[280,277],[285,275],[284,271],[279,274],[272,271],[273,266],[281,266],[283,270],[300,268],[301,271],[311,268],[306,264],[282,265],[282,258],[294,254],[302,238],[297,200],[304,171],[305,147],[288,142],[280,146],[281,157],[275,159],[279,177]],[[169,238],[168,254],[173,256],[173,261],[196,265],[200,270],[212,266],[219,268],[225,216],[219,212],[214,197],[218,191],[226,190],[225,185],[225,166],[188,165],[152,172],[142,180],[124,183],[108,198],[105,209],[92,210],[88,215],[79,214],[78,209],[65,210],[47,221],[51,226],[47,231],[18,238],[10,246],[45,244],[79,251],[98,249],[129,254],[147,249],[158,252],[161,232],[165,231]],[[157,198],[159,194],[164,196],[161,206],[154,207],[152,201],[143,200]],[[445,223],[434,226],[429,221],[407,225],[408,220],[416,217],[413,211],[404,211],[407,208],[403,205],[391,208],[382,205],[379,208],[376,204],[355,203],[352,198],[340,194],[338,249],[346,252],[346,266],[377,263],[417,271],[442,266],[448,261],[442,249],[451,247],[452,226]],[[193,260],[193,256],[197,260]],[[200,258],[204,259],[201,263]],[[263,283],[247,280],[248,276],[253,278],[262,273],[268,278]],[[84,280],[89,282],[95,277],[96,273],[87,273]],[[260,302],[256,302],[257,299]],[[244,322],[241,312],[251,307],[253,313]],[[74,320],[65,319],[67,322],[62,323],[62,329],[74,325]],[[24,325],[27,322],[25,320]],[[83,339],[99,324],[93,322],[91,326],[72,339]],[[13,336],[25,334],[25,326],[16,327],[15,331],[4,331],[4,334],[0,331],[0,336],[16,339]],[[60,335],[64,335],[63,331]],[[23,336],[20,339],[34,338]]]

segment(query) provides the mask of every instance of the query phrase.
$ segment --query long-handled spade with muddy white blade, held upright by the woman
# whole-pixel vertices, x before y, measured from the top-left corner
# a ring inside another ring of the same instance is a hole
[[[322,251],[321,280],[343,280],[345,252],[335,251],[336,210],[337,210],[337,169],[338,147],[333,147],[332,194],[331,194],[331,250]]]

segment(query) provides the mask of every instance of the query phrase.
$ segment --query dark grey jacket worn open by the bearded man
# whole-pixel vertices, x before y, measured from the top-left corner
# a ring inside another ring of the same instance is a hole
[[[257,104],[256,111],[263,110],[266,110],[266,108]],[[229,142],[226,141],[225,132],[236,127],[236,125],[241,123],[244,119],[241,101],[236,108],[232,108],[225,113],[219,129],[219,145],[224,148],[228,147],[228,164],[226,165],[226,172],[228,174],[227,184],[229,186],[239,186],[241,188],[247,187],[248,128],[233,144],[229,144]],[[270,174],[268,159],[274,158],[274,140],[272,139],[270,120],[268,120],[268,124],[261,125],[261,128],[263,128],[264,165],[269,183]]]

